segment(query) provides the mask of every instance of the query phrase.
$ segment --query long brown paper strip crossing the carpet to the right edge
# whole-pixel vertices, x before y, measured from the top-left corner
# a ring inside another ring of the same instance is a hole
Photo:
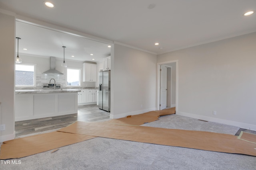
[[[110,123],[76,122],[59,131],[126,141],[256,156],[256,144],[234,135]]]

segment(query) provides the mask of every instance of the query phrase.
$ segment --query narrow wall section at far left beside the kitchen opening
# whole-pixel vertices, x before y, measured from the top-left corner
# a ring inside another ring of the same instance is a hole
[[[1,141],[11,140],[14,132],[14,63],[15,63],[15,17],[0,12],[0,102]]]

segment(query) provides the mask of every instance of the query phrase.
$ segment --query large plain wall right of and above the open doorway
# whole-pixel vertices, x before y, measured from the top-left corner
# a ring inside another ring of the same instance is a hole
[[[256,32],[158,55],[178,60],[177,114],[256,130],[255,47]]]

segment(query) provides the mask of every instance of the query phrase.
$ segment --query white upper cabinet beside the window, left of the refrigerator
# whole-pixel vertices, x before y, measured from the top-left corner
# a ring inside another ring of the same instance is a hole
[[[97,81],[97,64],[83,63],[83,82]]]

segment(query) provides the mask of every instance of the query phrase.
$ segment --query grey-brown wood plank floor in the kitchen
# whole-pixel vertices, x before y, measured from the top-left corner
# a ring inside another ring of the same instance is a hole
[[[110,113],[96,104],[78,106],[78,113],[15,122],[16,137],[66,127],[76,121],[100,121],[109,119]]]

